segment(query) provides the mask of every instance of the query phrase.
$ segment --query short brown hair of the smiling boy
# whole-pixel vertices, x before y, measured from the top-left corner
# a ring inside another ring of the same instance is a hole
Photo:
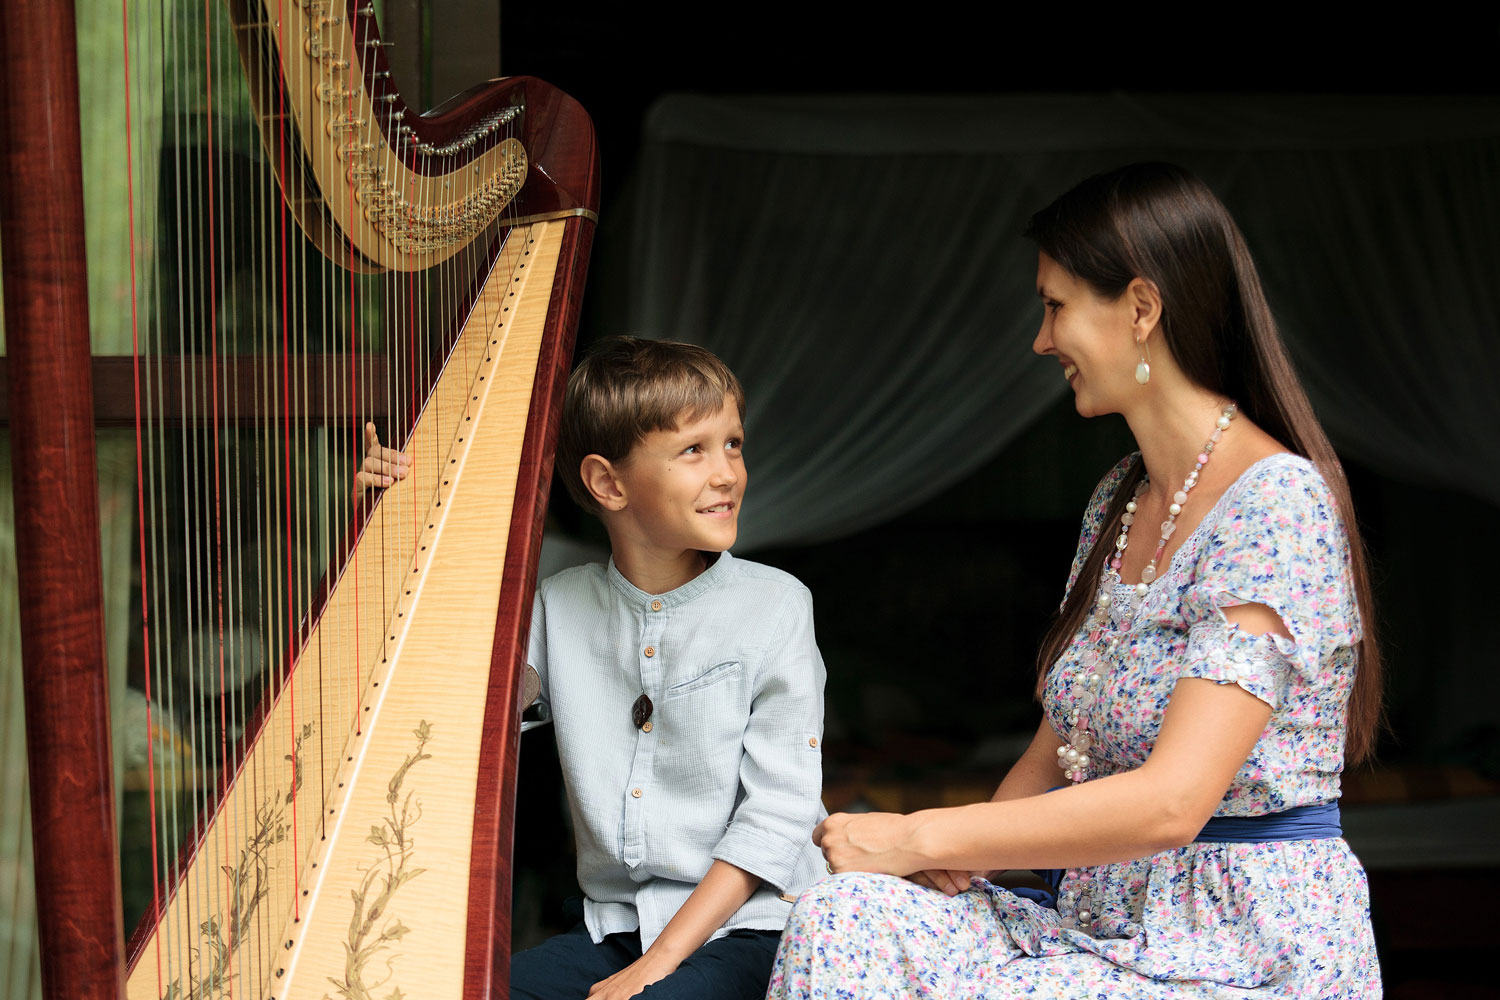
[[[562,397],[558,475],[579,507],[598,514],[579,466],[598,454],[620,462],[652,430],[672,430],[681,420],[718,412],[724,396],[740,420],[746,393],[729,366],[710,351],[676,340],[604,337],[573,369]]]

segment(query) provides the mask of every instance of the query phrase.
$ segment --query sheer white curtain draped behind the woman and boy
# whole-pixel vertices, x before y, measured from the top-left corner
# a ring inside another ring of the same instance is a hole
[[[1018,232],[1142,159],[1228,204],[1340,448],[1500,502],[1494,99],[669,96],[600,231],[600,333],[702,343],[746,382],[741,550],[850,534],[1066,391],[1030,354]]]

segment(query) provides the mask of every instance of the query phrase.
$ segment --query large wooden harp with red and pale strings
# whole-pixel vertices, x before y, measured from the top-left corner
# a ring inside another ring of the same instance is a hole
[[[258,138],[206,102],[160,156],[158,210],[132,187],[132,234],[156,226],[129,250],[138,348],[90,358],[74,15],[6,13],[0,232],[45,991],[506,996],[519,670],[597,208],[586,115],[525,78],[418,114],[354,0],[165,10],[152,37],[168,60],[201,54],[172,85],[243,79],[231,106]],[[126,66],[153,43],[126,40]],[[128,76],[128,115],[138,93]],[[152,154],[132,151],[138,171]],[[266,352],[244,349],[246,327]],[[350,522],[366,418],[414,465]],[[123,961],[93,487],[94,424],[111,420],[136,441],[142,519],[132,670],[150,760],[124,799],[152,804]]]

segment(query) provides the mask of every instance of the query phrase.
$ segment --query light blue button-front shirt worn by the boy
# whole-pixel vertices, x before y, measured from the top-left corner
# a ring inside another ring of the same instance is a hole
[[[556,732],[596,942],[651,943],[714,859],[764,880],[712,937],[780,931],[825,874],[824,660],[795,577],[722,553],[668,594],[615,568],[537,588],[528,660]],[[638,729],[632,706],[654,708]]]

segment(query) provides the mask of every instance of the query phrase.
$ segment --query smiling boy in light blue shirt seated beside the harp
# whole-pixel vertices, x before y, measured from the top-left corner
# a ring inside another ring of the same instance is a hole
[[[568,379],[558,471],[612,558],[542,583],[528,660],[584,924],[513,957],[518,1000],[759,1000],[790,901],[825,873],[812,595],[729,555],[742,420],[738,379],[686,343],[614,337]]]

